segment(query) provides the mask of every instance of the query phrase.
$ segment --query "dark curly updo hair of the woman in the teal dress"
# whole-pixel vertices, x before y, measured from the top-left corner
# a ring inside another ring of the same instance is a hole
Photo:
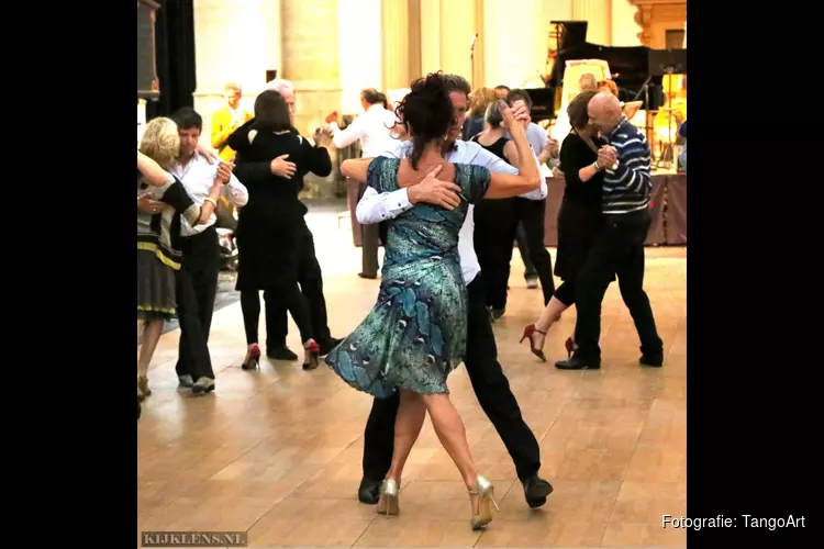
[[[443,72],[432,72],[412,82],[411,91],[398,103],[396,116],[412,135],[409,161],[417,169],[427,143],[444,139],[449,132],[455,112],[449,100],[450,88]]]

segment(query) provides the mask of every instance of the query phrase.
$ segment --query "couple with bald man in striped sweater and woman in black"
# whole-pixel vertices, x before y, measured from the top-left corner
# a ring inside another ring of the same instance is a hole
[[[644,291],[644,242],[652,223],[650,152],[644,133],[624,116],[609,92],[583,91],[567,109],[572,130],[560,149],[566,178],[558,214],[555,274],[564,280],[523,339],[546,360],[544,340],[561,312],[578,309],[575,336],[566,341],[561,370],[601,368],[601,302],[617,277],[641,338],[641,365],[664,365],[664,344]]]

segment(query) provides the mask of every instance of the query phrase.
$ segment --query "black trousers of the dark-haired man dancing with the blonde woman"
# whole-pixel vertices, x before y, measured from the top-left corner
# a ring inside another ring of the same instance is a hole
[[[220,274],[218,232],[211,226],[181,238],[182,261],[176,273],[180,344],[175,370],[178,376],[214,379],[209,355],[214,298]]]

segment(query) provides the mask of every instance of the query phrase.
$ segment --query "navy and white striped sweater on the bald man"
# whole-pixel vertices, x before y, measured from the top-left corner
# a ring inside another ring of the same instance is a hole
[[[625,214],[649,208],[653,189],[649,173],[650,152],[644,134],[628,120],[623,119],[609,136],[610,145],[617,150],[617,168],[604,171],[604,214]]]

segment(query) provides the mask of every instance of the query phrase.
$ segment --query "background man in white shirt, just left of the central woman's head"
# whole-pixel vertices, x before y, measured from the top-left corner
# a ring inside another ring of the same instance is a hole
[[[337,112],[326,116],[332,143],[337,148],[344,148],[356,141],[360,142],[360,153],[364,158],[375,158],[377,153],[386,148],[387,141],[391,138],[390,131],[394,126],[394,113],[383,107],[386,97],[374,88],[367,88],[360,92],[360,107],[364,113],[357,116],[346,130],[338,127]],[[366,191],[366,183],[360,181],[358,200]],[[361,225],[363,242],[360,244],[361,268],[358,277],[366,279],[378,278],[378,247],[380,234],[378,225]]]

